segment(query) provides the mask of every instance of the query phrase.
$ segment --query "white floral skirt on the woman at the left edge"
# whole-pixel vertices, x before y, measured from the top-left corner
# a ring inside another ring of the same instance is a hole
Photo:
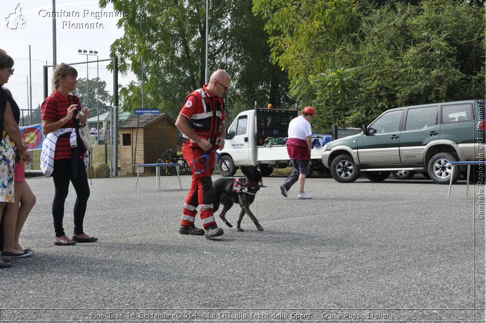
[[[14,202],[15,143],[3,129],[0,142],[0,202]]]

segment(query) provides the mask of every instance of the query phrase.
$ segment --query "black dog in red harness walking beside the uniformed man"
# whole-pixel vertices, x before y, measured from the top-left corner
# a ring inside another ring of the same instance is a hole
[[[243,219],[243,215],[246,214],[253,220],[253,223],[257,226],[257,229],[263,231],[263,228],[258,223],[257,218],[250,211],[250,204],[255,200],[255,194],[260,189],[258,182],[261,180],[261,173],[255,166],[240,166],[243,172],[244,178],[238,179],[239,184],[234,179],[217,179],[213,182],[213,212],[216,213],[219,209],[220,203],[223,205],[223,211],[219,217],[225,221],[228,227],[233,227],[231,223],[226,220],[226,212],[233,206],[234,203],[238,203],[241,206],[240,218],[236,228],[238,231],[243,231],[240,224]],[[243,187],[242,187],[243,185]],[[235,187],[235,188],[233,188]]]

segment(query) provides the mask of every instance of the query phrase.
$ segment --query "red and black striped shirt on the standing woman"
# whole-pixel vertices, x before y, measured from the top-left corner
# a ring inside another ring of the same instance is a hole
[[[81,102],[77,96],[69,94],[69,98],[65,98],[58,90],[54,90],[51,95],[49,95],[44,102],[42,102],[41,107],[41,119],[57,121],[64,118],[66,123],[61,126],[61,128],[74,128],[76,121],[76,113],[72,114],[72,118],[66,120],[66,114],[68,113],[68,108],[72,104],[78,105],[78,111],[81,110]],[[69,132],[68,132],[69,133]],[[56,151],[54,154],[54,160],[57,159],[67,159],[71,158],[72,147],[69,144],[69,136],[61,136],[57,139]],[[80,156],[84,158],[84,156]]]

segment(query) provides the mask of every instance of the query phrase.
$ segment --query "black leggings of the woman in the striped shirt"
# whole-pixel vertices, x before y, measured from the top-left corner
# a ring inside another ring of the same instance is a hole
[[[84,233],[83,220],[89,198],[89,185],[83,159],[78,159],[78,177],[76,179],[72,178],[70,159],[55,160],[52,178],[54,179],[55,188],[54,201],[52,202],[52,217],[54,218],[56,237],[66,235],[62,222],[64,218],[64,202],[69,192],[69,180],[76,191],[76,202],[74,203],[74,234]]]

